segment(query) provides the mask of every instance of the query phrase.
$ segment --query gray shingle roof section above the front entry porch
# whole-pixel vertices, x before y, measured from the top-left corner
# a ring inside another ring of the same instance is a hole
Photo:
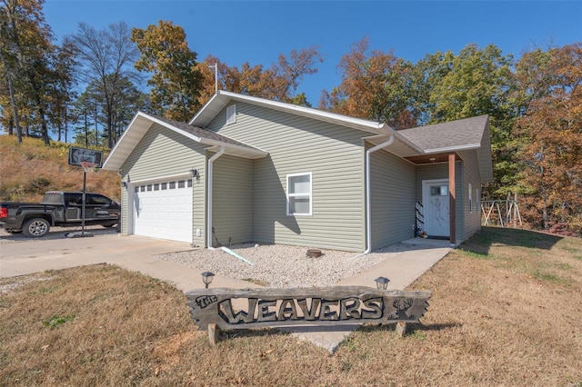
[[[428,153],[476,147],[481,144],[487,120],[487,115],[479,115],[449,123],[405,129],[397,133]]]

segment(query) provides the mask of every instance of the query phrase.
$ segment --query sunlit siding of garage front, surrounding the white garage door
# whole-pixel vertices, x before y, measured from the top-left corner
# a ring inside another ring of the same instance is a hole
[[[131,213],[133,203],[128,193],[132,192],[134,183],[159,180],[168,176],[189,177],[189,171],[196,168],[200,177],[192,184],[194,190],[193,243],[205,245],[205,147],[206,145],[197,144],[159,124],[152,125],[122,167],[123,179],[130,184],[122,195],[123,208],[128,209],[122,213],[122,233],[130,233],[128,216],[133,215]],[[196,229],[201,230],[200,237],[196,237]]]

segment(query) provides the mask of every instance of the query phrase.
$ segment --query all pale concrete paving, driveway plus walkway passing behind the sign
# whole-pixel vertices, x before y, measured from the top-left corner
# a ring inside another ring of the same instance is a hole
[[[390,280],[388,289],[405,289],[450,251],[448,241],[416,238],[404,243],[410,244],[412,248],[406,252],[397,253],[396,256],[386,259],[366,272],[347,278],[337,285],[374,287],[374,280],[378,276],[384,276]],[[139,236],[121,236],[115,233],[95,235],[92,238],[1,243],[0,278],[87,264],[111,263],[172,283],[177,289],[186,293],[204,286],[201,281],[202,271],[162,260],[156,255],[191,249],[187,243],[161,241]],[[253,283],[221,275],[215,276],[212,286],[236,289],[257,287]],[[339,343],[356,328],[357,325],[344,325],[322,328],[294,327],[282,328],[282,330],[334,352]]]

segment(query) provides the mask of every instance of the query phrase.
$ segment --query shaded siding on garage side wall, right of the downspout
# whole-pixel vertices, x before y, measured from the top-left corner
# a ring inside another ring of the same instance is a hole
[[[212,213],[218,242],[228,245],[228,238],[231,243],[253,242],[252,160],[226,154],[216,159]]]

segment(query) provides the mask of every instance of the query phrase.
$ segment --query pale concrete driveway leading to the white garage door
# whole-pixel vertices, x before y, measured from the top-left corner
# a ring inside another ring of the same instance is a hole
[[[67,238],[65,233],[69,231],[55,230],[38,239],[3,231],[0,234],[0,278],[111,263],[172,283],[184,292],[204,287],[202,271],[156,257],[192,250],[188,243],[122,236],[115,233],[115,229],[99,227],[88,229],[93,237]],[[242,288],[251,287],[252,283],[216,275],[213,286]]]

